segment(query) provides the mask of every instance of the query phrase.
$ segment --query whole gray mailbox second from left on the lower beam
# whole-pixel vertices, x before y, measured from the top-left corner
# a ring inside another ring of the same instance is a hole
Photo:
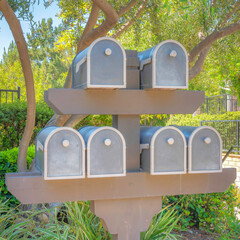
[[[113,127],[86,126],[79,129],[87,146],[87,176],[126,176],[126,143]]]

